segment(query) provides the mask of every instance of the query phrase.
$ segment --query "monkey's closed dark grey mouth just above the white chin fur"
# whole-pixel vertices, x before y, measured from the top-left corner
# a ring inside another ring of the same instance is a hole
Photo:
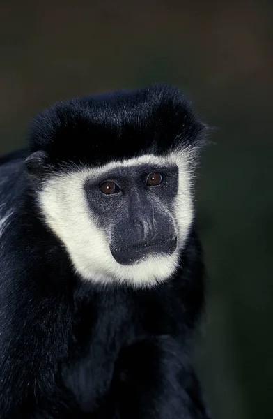
[[[127,246],[123,247],[110,247],[110,251],[120,265],[133,265],[134,263],[139,263],[150,254],[171,255],[176,250],[176,245],[177,237],[170,236],[164,239],[151,240],[150,242],[127,244]]]

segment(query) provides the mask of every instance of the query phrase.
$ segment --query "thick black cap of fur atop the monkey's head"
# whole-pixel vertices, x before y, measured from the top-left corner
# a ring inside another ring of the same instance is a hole
[[[155,85],[56,103],[33,119],[30,151],[101,164],[179,145],[199,148],[205,130],[179,89]]]

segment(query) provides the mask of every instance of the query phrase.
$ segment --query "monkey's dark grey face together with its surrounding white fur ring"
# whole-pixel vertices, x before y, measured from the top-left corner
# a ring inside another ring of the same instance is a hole
[[[82,277],[155,284],[176,270],[192,223],[187,154],[141,156],[50,177],[47,223]]]

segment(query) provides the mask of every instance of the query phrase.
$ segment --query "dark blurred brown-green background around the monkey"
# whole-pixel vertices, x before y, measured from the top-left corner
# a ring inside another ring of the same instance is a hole
[[[214,419],[273,418],[273,1],[0,1],[0,153],[59,99],[167,82],[211,126],[198,368]]]

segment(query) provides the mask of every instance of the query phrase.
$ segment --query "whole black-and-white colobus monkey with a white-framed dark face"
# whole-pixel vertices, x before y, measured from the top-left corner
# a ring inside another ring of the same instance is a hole
[[[56,103],[0,159],[1,419],[208,419],[191,359],[206,132],[153,86]]]

